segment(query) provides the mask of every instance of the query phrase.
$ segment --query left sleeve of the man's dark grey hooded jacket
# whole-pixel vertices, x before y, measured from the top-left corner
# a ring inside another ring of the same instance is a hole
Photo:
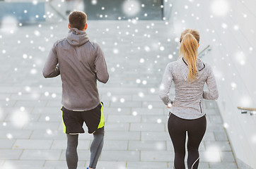
[[[45,68],[42,70],[42,75],[44,75],[45,78],[57,77],[58,75],[60,75],[59,65],[57,64],[58,58],[56,52],[56,45],[54,44],[45,63]]]

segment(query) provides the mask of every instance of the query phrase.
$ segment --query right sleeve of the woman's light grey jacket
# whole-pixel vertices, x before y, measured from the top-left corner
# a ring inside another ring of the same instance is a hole
[[[203,92],[203,98],[207,100],[216,100],[219,98],[219,92],[217,89],[216,80],[214,77],[214,72],[211,70],[211,67],[209,66],[209,73],[206,80],[206,84],[208,87],[208,91]]]

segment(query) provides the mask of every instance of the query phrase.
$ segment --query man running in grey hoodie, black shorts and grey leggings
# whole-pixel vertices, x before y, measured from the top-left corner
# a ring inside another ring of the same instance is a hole
[[[109,75],[103,51],[86,34],[87,15],[74,11],[69,15],[69,34],[54,43],[43,69],[45,78],[62,77],[62,120],[67,137],[66,163],[78,164],[78,134],[83,122],[93,134],[89,169],[96,168],[103,149],[104,116],[97,80],[106,83]]]

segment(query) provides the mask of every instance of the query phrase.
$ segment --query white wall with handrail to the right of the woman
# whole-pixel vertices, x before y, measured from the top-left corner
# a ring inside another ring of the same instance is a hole
[[[237,106],[256,108],[255,6],[252,0],[164,0],[175,37],[194,28],[201,36],[199,51],[211,46],[202,60],[214,69],[217,103],[235,156],[251,168],[256,168],[256,115],[241,114]]]

